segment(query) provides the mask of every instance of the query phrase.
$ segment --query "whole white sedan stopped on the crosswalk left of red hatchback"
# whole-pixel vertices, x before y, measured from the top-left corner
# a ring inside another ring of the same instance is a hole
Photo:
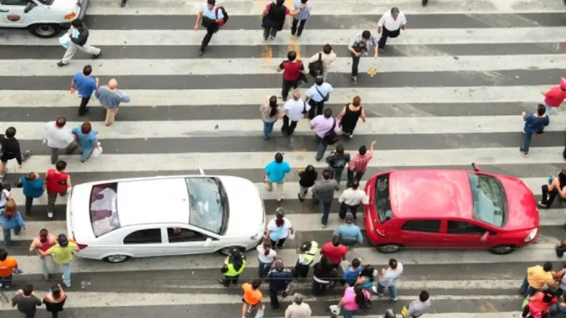
[[[76,256],[120,263],[256,247],[265,232],[258,188],[248,179],[199,170],[75,185],[67,231],[81,248]]]

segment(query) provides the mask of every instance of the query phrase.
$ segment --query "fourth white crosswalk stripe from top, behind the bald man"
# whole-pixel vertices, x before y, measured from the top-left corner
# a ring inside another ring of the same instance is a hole
[[[82,66],[82,64],[81,64]],[[550,83],[548,84],[550,85]],[[430,88],[335,88],[333,100],[348,101],[355,96],[380,103],[462,103],[462,102],[541,102],[545,86],[500,87],[430,87]],[[304,94],[305,89],[300,89]],[[195,105],[259,105],[267,95],[279,95],[279,88],[214,90],[127,90],[132,100],[124,107],[186,106]],[[96,102],[93,100],[93,102]],[[6,107],[62,107],[77,105],[79,100],[69,90],[0,90],[0,103]],[[93,104],[96,105],[96,104]]]

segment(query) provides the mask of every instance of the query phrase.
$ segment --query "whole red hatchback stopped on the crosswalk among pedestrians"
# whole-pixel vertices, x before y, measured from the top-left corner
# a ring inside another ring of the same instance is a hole
[[[516,177],[473,170],[396,170],[366,183],[368,239],[380,252],[489,249],[509,254],[538,237],[531,189]]]

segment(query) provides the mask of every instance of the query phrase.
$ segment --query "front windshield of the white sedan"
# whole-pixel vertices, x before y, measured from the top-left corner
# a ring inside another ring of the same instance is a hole
[[[189,192],[189,224],[221,234],[226,221],[223,188],[213,177],[185,178]]]

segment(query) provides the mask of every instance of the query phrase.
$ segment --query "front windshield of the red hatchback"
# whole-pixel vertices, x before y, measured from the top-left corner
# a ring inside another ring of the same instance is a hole
[[[504,190],[499,180],[488,175],[468,174],[472,188],[473,218],[502,228],[505,221]]]

